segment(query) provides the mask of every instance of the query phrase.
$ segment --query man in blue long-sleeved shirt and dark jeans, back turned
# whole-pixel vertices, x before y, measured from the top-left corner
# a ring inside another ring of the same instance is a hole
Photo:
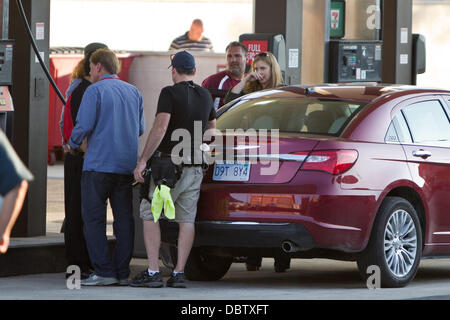
[[[142,95],[121,81],[119,61],[109,49],[90,58],[90,85],[81,101],[77,123],[69,139],[71,152],[87,138],[81,178],[84,233],[94,274],[82,285],[127,284],[134,245],[132,209],[133,170],[138,139],[144,133]],[[108,251],[106,201],[114,215],[114,259]]]

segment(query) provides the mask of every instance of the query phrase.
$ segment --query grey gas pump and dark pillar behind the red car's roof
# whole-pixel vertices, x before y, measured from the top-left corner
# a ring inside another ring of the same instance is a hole
[[[425,72],[425,38],[411,34],[408,10],[392,15],[399,5],[384,0],[330,2],[327,82],[416,84],[417,74]],[[392,28],[394,33],[384,33]]]

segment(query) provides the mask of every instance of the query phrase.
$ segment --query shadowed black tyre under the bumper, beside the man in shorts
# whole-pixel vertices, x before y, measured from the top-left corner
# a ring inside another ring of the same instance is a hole
[[[192,248],[184,273],[189,280],[215,281],[228,272],[232,262],[231,257],[219,257],[206,253],[200,248]]]

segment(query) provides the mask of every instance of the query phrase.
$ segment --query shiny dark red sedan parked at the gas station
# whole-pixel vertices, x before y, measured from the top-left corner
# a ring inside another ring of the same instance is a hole
[[[450,255],[450,91],[289,86],[218,114],[188,278],[256,254],[357,261],[364,278],[375,265],[401,287],[421,258]],[[176,224],[161,227],[167,262]]]

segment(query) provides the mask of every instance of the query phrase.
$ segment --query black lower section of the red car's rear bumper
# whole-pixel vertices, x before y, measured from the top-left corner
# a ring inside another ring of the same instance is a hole
[[[162,242],[175,244],[178,224],[160,221]],[[298,223],[246,221],[198,221],[195,223],[194,247],[281,248],[289,241],[297,251],[315,247],[308,230]]]

